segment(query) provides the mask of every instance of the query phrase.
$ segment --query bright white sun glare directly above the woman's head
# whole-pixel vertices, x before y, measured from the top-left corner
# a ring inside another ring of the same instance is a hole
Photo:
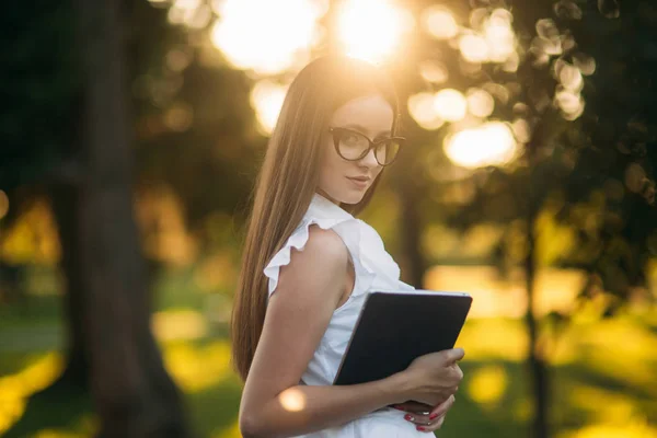
[[[388,0],[348,0],[338,11],[337,23],[348,56],[380,62],[397,49],[414,19]]]

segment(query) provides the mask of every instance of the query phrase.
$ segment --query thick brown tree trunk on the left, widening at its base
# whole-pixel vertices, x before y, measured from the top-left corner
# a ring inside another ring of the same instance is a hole
[[[150,332],[134,220],[124,28],[116,0],[76,0],[83,72],[80,261],[101,437],[187,436],[181,396]]]

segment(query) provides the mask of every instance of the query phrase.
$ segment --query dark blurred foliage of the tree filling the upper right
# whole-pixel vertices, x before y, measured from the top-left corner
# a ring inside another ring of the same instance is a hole
[[[607,315],[643,290],[636,288],[645,287],[648,262],[657,255],[657,126],[652,105],[657,97],[652,74],[657,9],[633,1],[615,11],[614,4],[602,1],[599,10],[575,1],[512,5],[527,55],[515,74],[521,92],[507,105],[496,102],[494,116],[521,115],[532,128],[531,139],[515,163],[462,172],[459,177],[449,177],[445,158],[431,152],[430,165],[441,166],[448,176],[424,183],[436,194],[427,204],[437,206],[423,209],[428,220],[464,231],[482,222],[526,220],[556,196],[553,214],[575,235],[572,253],[562,254],[556,264],[592,275],[581,298],[601,288],[620,299],[610,301]],[[553,20],[564,50],[548,65],[537,65],[540,54],[531,42],[545,19]],[[585,111],[573,122],[551,103],[561,87],[555,80],[561,62],[595,70],[584,82]],[[509,80],[505,76],[493,68],[486,78],[504,83]],[[518,103],[525,105],[521,113]],[[436,140],[427,139],[426,145],[435,149]],[[460,194],[456,201],[453,193]],[[499,266],[507,264],[506,244],[500,240],[492,253]]]

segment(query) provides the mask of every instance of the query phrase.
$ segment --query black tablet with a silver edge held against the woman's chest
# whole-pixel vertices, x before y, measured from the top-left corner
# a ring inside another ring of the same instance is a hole
[[[471,304],[464,292],[370,292],[333,384],[384,379],[418,356],[453,348]]]

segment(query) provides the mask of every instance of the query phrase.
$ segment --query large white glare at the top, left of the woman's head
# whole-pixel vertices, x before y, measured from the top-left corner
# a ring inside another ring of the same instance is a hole
[[[219,19],[212,44],[239,69],[275,74],[308,57],[325,2],[226,0],[214,4]],[[257,11],[257,13],[255,13]]]

